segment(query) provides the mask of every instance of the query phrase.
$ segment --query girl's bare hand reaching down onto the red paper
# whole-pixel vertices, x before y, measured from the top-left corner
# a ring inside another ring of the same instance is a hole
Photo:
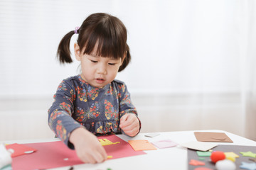
[[[82,162],[96,164],[107,159],[107,153],[97,137],[85,128],[77,128],[71,132],[70,142]]]

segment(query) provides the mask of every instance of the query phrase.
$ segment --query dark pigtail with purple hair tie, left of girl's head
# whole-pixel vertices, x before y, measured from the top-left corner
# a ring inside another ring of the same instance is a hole
[[[56,57],[58,58],[59,62],[61,64],[66,63],[71,63],[73,62],[71,58],[71,52],[70,52],[70,39],[72,35],[74,35],[74,31],[70,31],[67,33],[62,40],[60,40],[60,44],[58,45],[58,50],[57,50],[57,55]]]

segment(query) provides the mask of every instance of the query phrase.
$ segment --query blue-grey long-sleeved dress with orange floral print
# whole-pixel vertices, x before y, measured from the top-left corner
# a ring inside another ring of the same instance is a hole
[[[48,124],[65,145],[70,132],[85,127],[95,135],[120,134],[120,118],[137,110],[131,103],[127,86],[114,80],[100,88],[90,86],[80,75],[63,80],[48,110]]]

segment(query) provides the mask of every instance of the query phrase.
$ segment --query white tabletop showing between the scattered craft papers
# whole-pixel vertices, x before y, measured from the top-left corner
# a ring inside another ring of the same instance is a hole
[[[136,137],[127,137],[125,135],[117,135],[122,140],[149,140],[154,142],[158,140],[173,140],[174,142],[181,144],[184,142],[196,141],[196,137],[193,132],[225,132],[223,130],[196,130],[196,131],[179,131],[179,132],[160,132],[160,135],[156,137],[145,137],[147,133],[140,133]],[[214,142],[218,145],[245,145],[245,146],[256,146],[256,142],[248,140],[245,137],[234,135],[230,132],[225,132],[233,143],[228,142]],[[48,142],[55,141],[50,140],[29,140],[29,141],[8,141],[28,143],[28,142]],[[187,149],[184,147],[170,147],[166,149],[157,149],[151,151],[145,151],[146,154],[142,154],[134,157],[124,157],[120,159],[110,159],[101,164],[80,164],[75,165],[74,170],[78,169],[93,169],[93,170],[133,170],[133,169],[177,169],[186,170],[188,169],[188,157]],[[70,166],[60,167],[55,170],[68,170]]]

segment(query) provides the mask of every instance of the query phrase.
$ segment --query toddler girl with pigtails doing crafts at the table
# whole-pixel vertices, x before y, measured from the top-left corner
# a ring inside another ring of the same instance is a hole
[[[95,135],[133,137],[139,133],[140,121],[127,86],[114,79],[131,56],[122,21],[107,13],[93,13],[60,41],[60,63],[73,62],[69,47],[75,33],[75,58],[80,61],[81,74],[58,86],[48,110],[48,124],[65,145],[75,148],[82,162],[95,164],[107,159]]]

